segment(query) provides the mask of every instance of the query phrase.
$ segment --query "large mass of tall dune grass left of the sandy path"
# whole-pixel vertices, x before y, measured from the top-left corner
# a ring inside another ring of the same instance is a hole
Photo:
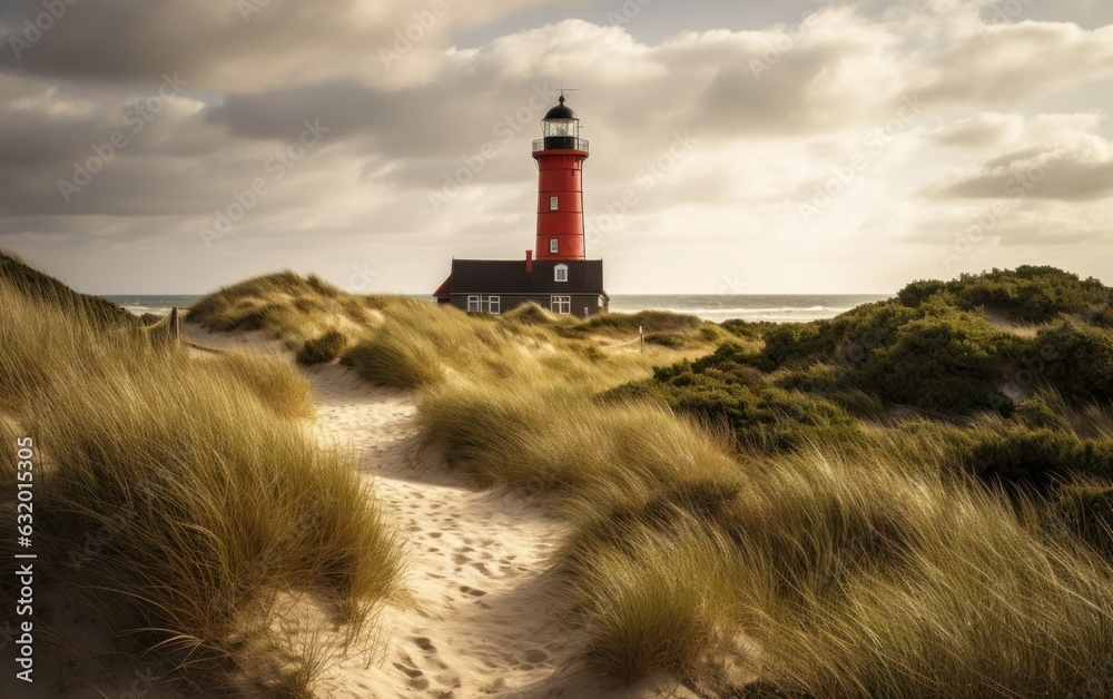
[[[59,583],[121,650],[195,686],[309,691],[322,643],[307,630],[290,657],[273,629],[308,604],[322,639],[370,630],[402,558],[354,456],[304,429],[305,378],[278,358],[194,357],[18,284],[0,277],[0,414],[40,450],[37,532]]]

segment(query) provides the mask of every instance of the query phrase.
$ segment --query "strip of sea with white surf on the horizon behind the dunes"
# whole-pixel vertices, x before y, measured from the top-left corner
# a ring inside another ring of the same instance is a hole
[[[152,313],[165,315],[177,306],[187,308],[200,295],[106,295],[136,315]],[[427,299],[429,296],[414,298]],[[611,311],[672,311],[699,316],[705,321],[721,323],[732,318],[769,321],[772,323],[806,323],[833,318],[861,304],[889,298],[877,294],[614,294]]]

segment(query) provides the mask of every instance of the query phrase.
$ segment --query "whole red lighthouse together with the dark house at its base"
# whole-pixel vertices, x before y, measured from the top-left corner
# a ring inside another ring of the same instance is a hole
[[[453,259],[452,273],[433,296],[462,311],[505,313],[533,302],[553,313],[588,317],[607,311],[603,260],[587,259],[581,174],[588,141],[575,112],[560,104],[541,121],[533,141],[538,161],[538,237],[525,259]]]

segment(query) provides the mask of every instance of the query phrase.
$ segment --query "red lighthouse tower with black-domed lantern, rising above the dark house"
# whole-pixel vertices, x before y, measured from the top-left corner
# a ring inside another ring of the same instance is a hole
[[[588,141],[580,138],[580,120],[559,104],[541,121],[544,138],[533,141],[538,161],[536,258],[584,259],[583,185]]]

